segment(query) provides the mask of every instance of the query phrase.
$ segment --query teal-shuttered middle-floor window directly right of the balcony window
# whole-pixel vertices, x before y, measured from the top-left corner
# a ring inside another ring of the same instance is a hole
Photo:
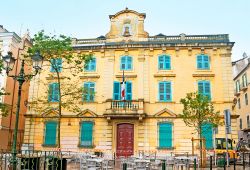
[[[162,81],[159,82],[159,101],[168,102],[172,101],[172,89],[171,82]]]

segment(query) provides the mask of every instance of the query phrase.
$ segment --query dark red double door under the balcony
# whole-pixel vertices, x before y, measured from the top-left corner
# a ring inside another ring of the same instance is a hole
[[[117,125],[116,156],[131,156],[134,154],[134,125],[123,123]]]

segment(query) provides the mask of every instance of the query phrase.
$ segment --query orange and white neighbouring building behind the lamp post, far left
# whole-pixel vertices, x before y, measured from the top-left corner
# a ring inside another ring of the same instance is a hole
[[[9,73],[10,75],[17,75],[19,73],[21,65],[20,58],[29,46],[31,46],[31,42],[28,34],[20,38],[15,32],[9,32],[0,25],[0,53],[4,56],[10,51],[13,53],[13,57],[17,59],[13,70]],[[27,67],[25,67],[25,71],[28,71]],[[7,116],[3,116],[0,113],[0,149],[10,150],[13,142],[13,129],[15,126],[18,82],[7,77],[5,70],[3,70],[2,74],[0,74],[0,88],[5,89],[5,92],[9,94],[0,96],[0,102],[10,106],[10,113]],[[25,83],[22,90],[17,141],[18,148],[21,147],[21,142],[23,141],[24,113],[26,113],[27,110],[25,103],[27,103],[28,100],[29,84]]]

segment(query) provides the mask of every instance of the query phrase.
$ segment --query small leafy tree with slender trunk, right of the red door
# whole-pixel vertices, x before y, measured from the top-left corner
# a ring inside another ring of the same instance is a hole
[[[211,123],[214,127],[220,124],[220,112],[215,111],[208,97],[196,93],[188,93],[180,102],[184,108],[180,117],[189,127],[194,127],[200,139],[200,157],[202,159],[202,125]],[[202,161],[201,161],[202,163]]]

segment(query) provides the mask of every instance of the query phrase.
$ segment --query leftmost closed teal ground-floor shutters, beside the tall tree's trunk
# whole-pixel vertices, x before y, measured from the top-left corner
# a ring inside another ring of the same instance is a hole
[[[57,122],[45,123],[45,145],[56,145]]]

